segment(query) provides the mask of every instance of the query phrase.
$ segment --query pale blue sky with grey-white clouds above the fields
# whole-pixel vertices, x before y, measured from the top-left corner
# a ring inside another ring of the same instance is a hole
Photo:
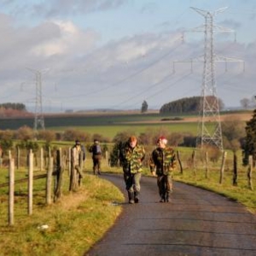
[[[217,96],[240,107],[256,95],[254,0],[0,0],[0,104],[160,109],[201,96],[207,12],[215,60],[230,60],[214,62]]]

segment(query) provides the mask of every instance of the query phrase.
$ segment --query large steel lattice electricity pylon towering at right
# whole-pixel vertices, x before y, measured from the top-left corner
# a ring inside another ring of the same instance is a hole
[[[216,55],[214,53],[213,32],[234,32],[229,28],[215,26],[213,24],[213,17],[223,12],[226,8],[218,9],[212,13],[193,7],[191,7],[191,9],[194,9],[205,18],[205,24],[203,26],[191,30],[191,32],[204,32],[205,35],[204,55],[193,60],[199,61],[202,59],[204,63],[196,147],[203,148],[206,145],[211,145],[223,150],[219,102],[216,89],[215,62],[241,62],[241,60]],[[191,61],[191,66],[193,61]]]

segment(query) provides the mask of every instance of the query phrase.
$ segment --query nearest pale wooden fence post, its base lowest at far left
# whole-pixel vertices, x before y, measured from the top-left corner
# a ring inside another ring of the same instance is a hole
[[[15,224],[15,160],[9,159],[9,225]]]

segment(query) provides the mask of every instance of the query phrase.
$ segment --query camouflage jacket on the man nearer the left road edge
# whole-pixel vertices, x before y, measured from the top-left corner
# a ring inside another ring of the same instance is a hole
[[[131,173],[142,172],[144,157],[145,149],[142,145],[136,145],[135,148],[131,148],[129,143],[125,143],[120,154],[123,171]]]

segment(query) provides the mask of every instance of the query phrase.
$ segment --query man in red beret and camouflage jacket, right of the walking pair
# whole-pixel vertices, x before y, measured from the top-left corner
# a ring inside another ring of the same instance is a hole
[[[172,171],[176,168],[176,156],[171,147],[166,146],[166,137],[159,137],[157,148],[150,158],[150,171],[157,175],[160,202],[168,202],[172,193]]]

